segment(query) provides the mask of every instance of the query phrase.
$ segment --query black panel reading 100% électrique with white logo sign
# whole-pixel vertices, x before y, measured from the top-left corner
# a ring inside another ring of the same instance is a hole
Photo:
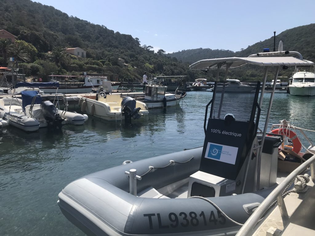
[[[235,180],[252,144],[254,123],[208,120],[200,171]]]

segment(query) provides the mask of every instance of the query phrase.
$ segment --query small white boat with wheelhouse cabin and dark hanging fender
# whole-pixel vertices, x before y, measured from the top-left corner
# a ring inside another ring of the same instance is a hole
[[[144,98],[136,98],[142,101],[148,108],[176,106],[180,100],[186,96],[185,91],[175,91],[175,93],[166,93],[167,86],[146,85]]]

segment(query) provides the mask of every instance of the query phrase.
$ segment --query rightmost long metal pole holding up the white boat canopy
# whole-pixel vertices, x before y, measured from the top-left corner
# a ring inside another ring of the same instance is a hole
[[[269,107],[268,107],[268,111],[267,111],[267,115],[266,115],[266,123],[265,123],[265,127],[264,127],[264,132],[263,132],[262,138],[261,138],[261,148],[259,149],[259,154],[258,154],[258,159],[257,159],[257,162],[258,162],[257,163],[257,191],[259,190],[259,185],[260,185],[261,153],[262,153],[262,149],[263,149],[264,142],[265,142],[267,127],[268,127],[268,122],[269,122],[269,116],[270,116],[270,111],[271,111],[271,106],[272,106],[272,101],[273,101],[273,95],[274,95],[275,90],[276,90],[276,82],[278,79],[279,70],[280,70],[280,66],[277,67],[276,74],[274,77],[274,83],[272,86],[272,93],[270,95]]]

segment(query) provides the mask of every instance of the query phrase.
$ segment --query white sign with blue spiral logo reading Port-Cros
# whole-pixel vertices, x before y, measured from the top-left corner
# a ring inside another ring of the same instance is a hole
[[[237,152],[237,147],[208,143],[205,157],[235,165]]]

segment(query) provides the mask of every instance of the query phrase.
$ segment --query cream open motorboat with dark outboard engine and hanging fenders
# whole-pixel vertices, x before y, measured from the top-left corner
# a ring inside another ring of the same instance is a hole
[[[143,120],[148,117],[149,111],[145,103],[133,98],[120,97],[120,94],[106,94],[97,99],[78,96],[82,112],[101,118],[106,121]]]

